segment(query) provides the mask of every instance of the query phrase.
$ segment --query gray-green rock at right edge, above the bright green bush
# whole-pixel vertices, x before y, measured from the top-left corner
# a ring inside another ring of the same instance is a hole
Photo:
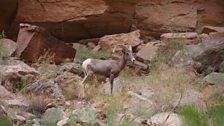
[[[203,78],[203,81],[208,84],[224,85],[224,73],[213,72]]]

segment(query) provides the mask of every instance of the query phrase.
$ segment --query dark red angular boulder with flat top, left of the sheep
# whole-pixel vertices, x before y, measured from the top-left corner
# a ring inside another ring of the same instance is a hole
[[[21,24],[17,39],[16,55],[31,62],[49,53],[55,63],[73,60],[76,50],[53,37],[46,29],[35,25]]]

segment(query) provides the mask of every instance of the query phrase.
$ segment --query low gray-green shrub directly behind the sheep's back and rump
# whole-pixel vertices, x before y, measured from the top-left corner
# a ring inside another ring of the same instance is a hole
[[[109,49],[101,49],[97,52],[94,52],[88,47],[80,46],[77,48],[76,61],[83,62],[87,58],[106,58],[110,56],[111,53],[112,51]]]

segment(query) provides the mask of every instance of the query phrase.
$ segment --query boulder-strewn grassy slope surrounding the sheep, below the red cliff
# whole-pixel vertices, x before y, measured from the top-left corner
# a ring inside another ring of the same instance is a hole
[[[26,31],[30,29],[40,36],[31,35],[32,39],[27,40]],[[38,47],[35,42],[41,43],[49,34],[38,29],[42,28],[27,25],[19,35],[18,41],[25,36],[26,46],[2,36],[0,125],[181,126],[186,123],[189,106],[207,111],[214,105],[223,111],[218,99],[224,93],[224,39],[216,27],[205,28],[217,30],[209,35],[166,33],[159,40],[147,43],[136,30],[82,40],[73,47],[60,46],[76,53],[73,62],[65,60],[71,57],[54,53],[57,49],[40,53],[38,50],[44,44]],[[114,95],[109,93],[107,80],[95,77],[88,82],[86,97],[80,97],[83,90],[80,63],[88,57],[119,58],[110,48],[117,44],[131,45],[137,62],[128,64],[115,79]],[[20,55],[14,57],[14,52]],[[217,116],[222,117],[223,114]],[[195,118],[198,125],[206,125],[200,123],[201,117]],[[208,118],[210,125],[216,123],[213,117]]]

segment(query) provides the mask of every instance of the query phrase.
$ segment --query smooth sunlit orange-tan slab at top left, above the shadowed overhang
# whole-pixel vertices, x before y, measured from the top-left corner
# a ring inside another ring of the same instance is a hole
[[[83,20],[78,18],[103,14],[107,9],[103,0],[20,0],[19,7],[17,20],[24,22]]]

